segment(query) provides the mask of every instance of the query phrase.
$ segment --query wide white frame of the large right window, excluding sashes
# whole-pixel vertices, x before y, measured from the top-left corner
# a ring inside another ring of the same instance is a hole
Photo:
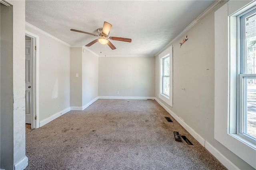
[[[247,1],[248,2],[248,1]],[[215,111],[214,138],[256,168],[256,144],[237,134],[237,87],[240,53],[237,16],[256,5],[228,1],[215,12]],[[232,12],[232,13],[231,13]]]

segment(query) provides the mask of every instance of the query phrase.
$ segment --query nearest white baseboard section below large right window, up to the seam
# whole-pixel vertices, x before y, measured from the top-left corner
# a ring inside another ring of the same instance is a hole
[[[226,158],[216,148],[214,148],[207,140],[205,141],[205,148],[217,158],[228,170],[240,170],[233,162]]]

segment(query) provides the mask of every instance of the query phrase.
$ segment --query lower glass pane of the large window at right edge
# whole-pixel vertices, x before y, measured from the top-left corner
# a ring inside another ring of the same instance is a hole
[[[247,79],[247,111],[244,114],[244,133],[256,138],[256,79]],[[246,88],[245,88],[246,89]]]

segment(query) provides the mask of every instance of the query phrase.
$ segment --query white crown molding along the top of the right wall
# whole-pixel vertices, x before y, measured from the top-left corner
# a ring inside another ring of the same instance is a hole
[[[170,47],[170,45],[172,45],[172,43],[174,43],[176,40],[178,40],[178,38],[180,38],[180,36],[182,36],[183,34],[185,34],[190,28],[192,28],[194,25],[196,25],[200,20],[202,20],[206,15],[208,15],[210,12],[212,12],[212,10],[214,10],[214,8],[216,8],[219,4],[221,4],[224,0],[216,0],[209,8],[207,8],[200,16],[198,16],[193,22],[191,22],[182,32],[180,32],[180,34],[178,34],[178,36],[176,36],[174,39],[172,39],[172,41],[170,43],[168,43],[166,46],[164,46],[160,51],[158,51],[156,55],[159,55],[160,53],[162,53],[162,51],[164,51],[165,49],[167,49],[168,47]]]

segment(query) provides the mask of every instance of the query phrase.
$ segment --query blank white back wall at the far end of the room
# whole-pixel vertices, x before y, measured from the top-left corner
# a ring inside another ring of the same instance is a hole
[[[99,57],[99,96],[154,97],[154,60],[155,57]]]

